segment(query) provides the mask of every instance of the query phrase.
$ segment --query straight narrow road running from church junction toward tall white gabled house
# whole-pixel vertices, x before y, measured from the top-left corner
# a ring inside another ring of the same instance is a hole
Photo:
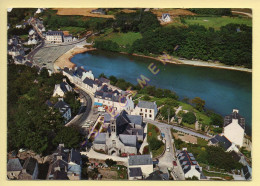
[[[193,135],[193,136],[197,136],[197,137],[200,137],[200,138],[203,138],[203,139],[210,139],[211,137],[209,136],[206,136],[204,134],[200,134],[200,133],[197,133],[197,132],[194,132],[192,130],[189,130],[189,129],[185,129],[185,128],[181,128],[181,127],[177,127],[177,126],[172,126],[172,125],[168,125],[166,123],[161,123],[161,122],[158,122],[158,121],[153,121],[153,120],[149,120],[149,119],[144,119],[145,122],[148,122],[148,123],[151,123],[153,125],[156,125],[157,127],[166,127],[168,130],[170,130],[171,128],[177,130],[177,131],[180,131],[180,132],[183,132],[183,133],[186,133],[186,134],[190,134],[190,135]]]

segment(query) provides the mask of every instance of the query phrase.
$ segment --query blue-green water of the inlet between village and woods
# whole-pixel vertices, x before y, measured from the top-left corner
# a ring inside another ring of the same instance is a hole
[[[237,108],[246,118],[246,133],[251,135],[251,73],[188,65],[163,65],[152,59],[104,51],[77,54],[71,61],[78,66],[84,66],[86,70],[92,70],[95,77],[104,73],[133,84],[137,84],[136,79],[142,74],[150,78],[150,85],[170,89],[180,98],[200,97],[206,101],[206,108],[223,116]],[[157,75],[153,75],[148,69],[150,63],[160,69]]]

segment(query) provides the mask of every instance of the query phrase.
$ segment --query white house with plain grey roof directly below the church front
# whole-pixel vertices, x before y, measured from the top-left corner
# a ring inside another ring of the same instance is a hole
[[[152,156],[150,154],[128,156],[127,169],[130,180],[148,177],[153,172]]]

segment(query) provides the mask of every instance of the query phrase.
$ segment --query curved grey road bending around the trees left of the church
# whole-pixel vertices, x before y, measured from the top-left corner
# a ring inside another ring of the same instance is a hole
[[[92,109],[92,99],[91,97],[83,90],[77,89],[77,91],[80,94],[80,97],[83,99],[83,104],[79,110],[79,113],[75,118],[66,124],[66,126],[72,126],[72,125],[77,125],[77,126],[82,126],[84,122],[87,120],[89,113]]]

